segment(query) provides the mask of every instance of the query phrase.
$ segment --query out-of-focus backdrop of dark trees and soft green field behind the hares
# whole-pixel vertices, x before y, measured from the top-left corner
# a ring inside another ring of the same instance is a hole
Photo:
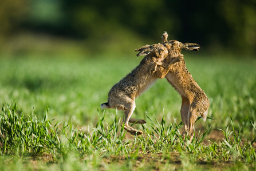
[[[169,39],[198,43],[183,50],[187,68],[210,99],[209,117],[196,128],[235,125],[251,131],[256,119],[256,1],[0,1],[0,102],[18,112],[85,126],[111,87],[143,57],[135,49]],[[136,99],[133,116],[181,121],[181,98],[166,79]],[[163,112],[164,110],[164,112]],[[123,112],[120,116],[123,116]]]

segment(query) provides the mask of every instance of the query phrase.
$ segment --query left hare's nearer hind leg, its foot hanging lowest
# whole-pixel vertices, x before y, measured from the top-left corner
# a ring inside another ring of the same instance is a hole
[[[133,111],[135,110],[135,102],[134,101],[130,101],[129,104],[125,105],[125,110],[124,110],[124,129],[127,130],[127,132],[129,132],[130,134],[132,134],[133,136],[136,135],[140,136],[141,134],[143,134],[143,132],[141,132],[140,130],[136,130],[133,129],[131,126],[128,125],[128,122],[132,116]],[[133,120],[133,119],[132,119]]]

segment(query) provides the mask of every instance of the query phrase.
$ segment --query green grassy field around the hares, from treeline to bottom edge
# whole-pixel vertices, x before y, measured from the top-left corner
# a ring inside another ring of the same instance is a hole
[[[147,121],[132,137],[123,112],[101,110],[141,58],[0,59],[1,170],[255,170],[256,59],[197,57],[187,67],[210,99],[206,122],[183,141],[181,99],[166,79],[136,100]]]

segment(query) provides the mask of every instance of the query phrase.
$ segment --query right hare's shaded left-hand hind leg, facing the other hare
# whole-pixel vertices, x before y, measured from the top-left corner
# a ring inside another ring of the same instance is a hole
[[[182,133],[183,139],[188,133],[188,112],[190,110],[190,102],[186,97],[182,97],[182,108],[180,109],[180,115],[182,116],[182,122],[184,124],[184,131]]]

